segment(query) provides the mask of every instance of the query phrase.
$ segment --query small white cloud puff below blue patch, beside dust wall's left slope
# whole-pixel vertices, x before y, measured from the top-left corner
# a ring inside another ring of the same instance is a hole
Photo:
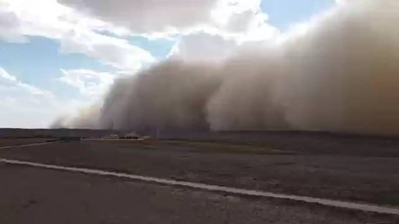
[[[113,83],[115,75],[105,72],[95,72],[87,69],[62,70],[63,76],[59,81],[73,86],[83,96],[100,98]]]

